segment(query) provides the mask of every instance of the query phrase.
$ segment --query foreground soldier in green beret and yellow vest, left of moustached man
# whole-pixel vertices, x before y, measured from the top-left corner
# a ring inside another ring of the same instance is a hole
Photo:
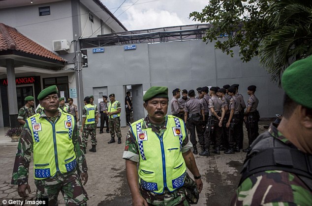
[[[88,197],[82,182],[85,185],[88,181],[87,163],[82,152],[77,125],[72,121],[71,115],[58,110],[59,98],[57,93],[57,87],[53,85],[42,90],[38,95],[38,100],[44,110],[27,119],[22,130],[11,184],[18,185],[20,197],[28,197],[26,190],[31,192],[28,178],[31,152],[33,152],[34,183],[37,187],[37,198],[47,198],[48,205],[57,206],[58,195],[61,191],[66,205],[85,206]],[[65,120],[65,125],[63,120]],[[55,132],[51,135],[52,126],[59,129],[63,128],[63,132]],[[66,135],[67,138],[64,138]],[[57,144],[58,147],[54,144]],[[58,156],[55,157],[55,154]],[[67,158],[65,157],[66,154],[74,154],[74,156]]]

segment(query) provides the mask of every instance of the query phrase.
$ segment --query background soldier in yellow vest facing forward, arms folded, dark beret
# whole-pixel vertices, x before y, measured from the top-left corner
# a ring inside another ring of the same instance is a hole
[[[109,95],[110,102],[107,104],[105,113],[108,116],[108,127],[111,134],[111,140],[108,144],[114,143],[115,141],[115,132],[118,138],[118,144],[122,143],[122,131],[120,130],[120,112],[122,107],[120,102],[115,100],[115,94]]]

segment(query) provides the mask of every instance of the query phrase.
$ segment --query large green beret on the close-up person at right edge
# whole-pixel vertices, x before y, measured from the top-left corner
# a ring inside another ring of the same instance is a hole
[[[307,91],[312,87],[312,55],[295,61],[283,73],[281,84],[290,99],[312,109],[312,96]]]

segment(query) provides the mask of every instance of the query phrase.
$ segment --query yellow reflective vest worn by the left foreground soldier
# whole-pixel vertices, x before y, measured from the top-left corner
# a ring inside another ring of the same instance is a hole
[[[72,143],[74,117],[62,112],[53,124],[35,114],[27,119],[33,141],[34,179],[42,180],[76,169],[77,160]]]

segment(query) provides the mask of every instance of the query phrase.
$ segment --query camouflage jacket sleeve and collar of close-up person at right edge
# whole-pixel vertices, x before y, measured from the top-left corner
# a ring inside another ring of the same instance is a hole
[[[287,147],[296,148],[273,125],[270,126],[268,132],[261,135],[262,138],[271,136]],[[259,136],[255,140],[256,142],[252,144],[252,147],[257,147],[257,142],[262,138]],[[278,170],[259,172],[250,176],[239,185],[231,201],[232,206],[309,206],[311,203],[312,191],[305,183],[295,174]]]

